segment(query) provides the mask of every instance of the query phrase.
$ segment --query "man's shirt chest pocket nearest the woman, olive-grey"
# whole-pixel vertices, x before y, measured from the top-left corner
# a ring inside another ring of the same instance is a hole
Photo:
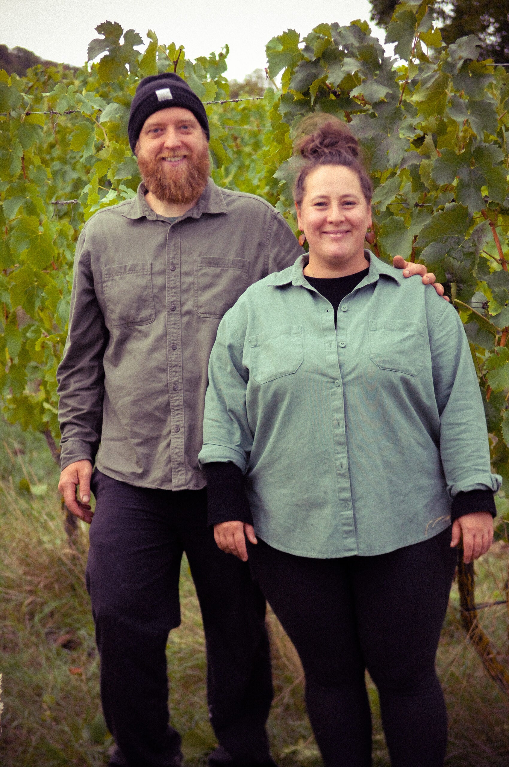
[[[221,318],[248,287],[246,258],[199,256],[195,262],[195,312]]]

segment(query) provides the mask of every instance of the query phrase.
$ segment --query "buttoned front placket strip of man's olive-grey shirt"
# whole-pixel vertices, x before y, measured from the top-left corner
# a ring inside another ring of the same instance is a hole
[[[186,488],[184,457],[184,393],[182,381],[182,295],[180,285],[179,228],[169,226],[166,239],[166,344],[168,351],[168,393],[172,417],[170,459],[172,488]]]

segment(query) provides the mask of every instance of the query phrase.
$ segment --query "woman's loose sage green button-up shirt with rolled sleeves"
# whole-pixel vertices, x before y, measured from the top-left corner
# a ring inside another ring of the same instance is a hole
[[[294,266],[225,314],[200,463],[246,476],[260,537],[306,557],[377,555],[450,525],[460,491],[498,490],[455,309],[370,258],[333,308]]]

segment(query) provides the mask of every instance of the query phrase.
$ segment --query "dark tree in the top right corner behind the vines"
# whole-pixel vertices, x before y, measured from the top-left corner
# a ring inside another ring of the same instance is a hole
[[[397,0],[371,0],[371,18],[387,27]],[[507,0],[436,0],[430,3],[435,20],[441,24],[447,44],[465,35],[477,35],[483,44],[483,58],[509,63],[509,3]]]

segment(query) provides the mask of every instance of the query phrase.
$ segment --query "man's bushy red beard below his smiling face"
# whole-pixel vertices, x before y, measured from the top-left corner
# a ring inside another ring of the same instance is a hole
[[[149,192],[164,202],[186,205],[201,196],[210,174],[209,146],[187,157],[183,167],[173,168],[167,160],[149,160],[140,153],[138,167]]]

